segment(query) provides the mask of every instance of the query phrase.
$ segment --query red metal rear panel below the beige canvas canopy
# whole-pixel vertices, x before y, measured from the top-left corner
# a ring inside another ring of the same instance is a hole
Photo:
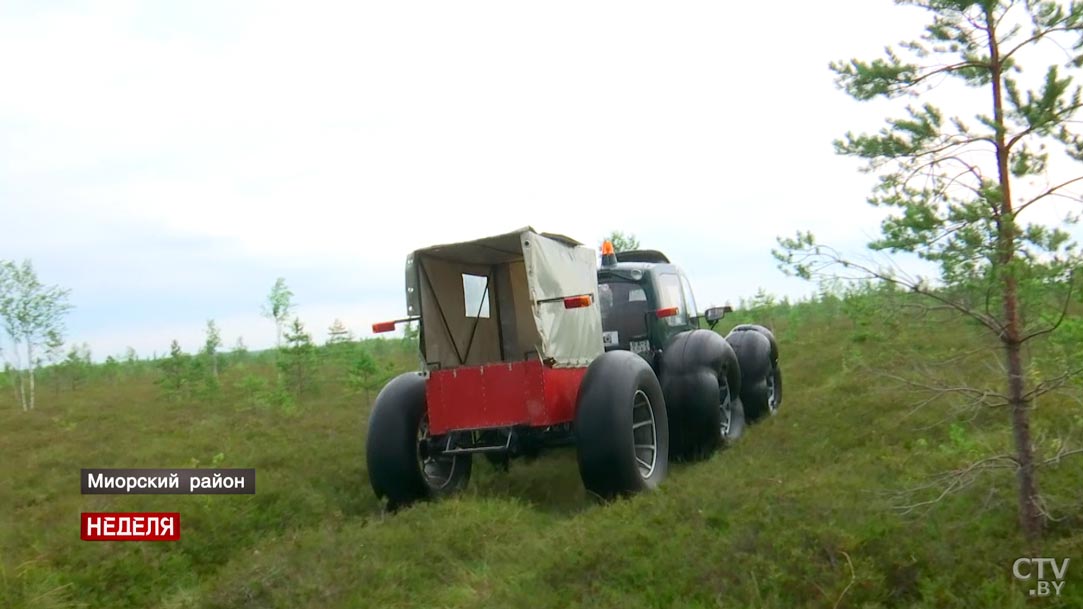
[[[426,388],[429,429],[444,433],[571,422],[585,373],[536,360],[433,371]]]

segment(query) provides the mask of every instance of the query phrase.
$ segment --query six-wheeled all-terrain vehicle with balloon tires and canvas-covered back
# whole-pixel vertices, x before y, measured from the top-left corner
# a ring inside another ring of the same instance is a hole
[[[406,259],[421,371],[373,405],[367,461],[389,504],[453,493],[472,456],[574,445],[588,491],[653,489],[669,459],[709,455],[782,401],[767,328],[701,328],[683,272],[653,250],[595,250],[531,228]],[[708,309],[714,327],[730,309]]]

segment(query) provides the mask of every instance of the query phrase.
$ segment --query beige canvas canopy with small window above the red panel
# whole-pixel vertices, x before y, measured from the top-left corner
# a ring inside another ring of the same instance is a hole
[[[406,308],[421,316],[430,367],[534,358],[585,366],[603,351],[597,272],[592,249],[526,226],[409,255]],[[589,306],[564,307],[585,295]]]

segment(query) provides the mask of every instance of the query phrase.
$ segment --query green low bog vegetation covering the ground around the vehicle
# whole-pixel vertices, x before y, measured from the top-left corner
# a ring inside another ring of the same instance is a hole
[[[997,377],[977,323],[888,288],[760,295],[736,323],[773,326],[786,403],[732,449],[677,466],[656,493],[586,496],[574,452],[481,459],[458,498],[386,514],[367,484],[368,404],[417,365],[413,336],[282,350],[135,357],[86,351],[41,372],[35,411],[0,391],[0,606],[109,607],[1023,607],[1020,556],[1072,557],[1079,607],[1083,389],[1036,401],[1047,530],[1018,530],[1000,415],[899,372]],[[1083,331],[1081,303],[1068,316]],[[1066,335],[1067,336],[1067,335]],[[1039,375],[1083,342],[1043,344]],[[293,350],[289,352],[289,350]],[[217,377],[213,371],[217,366]],[[303,374],[297,374],[303,370]],[[11,378],[6,376],[5,378]],[[80,467],[255,467],[255,495],[78,494]],[[944,495],[944,491],[951,491]],[[177,543],[86,543],[80,511],[178,510]]]

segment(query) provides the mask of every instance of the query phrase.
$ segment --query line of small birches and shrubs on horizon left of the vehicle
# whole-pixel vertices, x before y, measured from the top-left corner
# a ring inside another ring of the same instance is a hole
[[[275,348],[250,352],[244,338],[223,350],[222,334],[208,320],[204,342],[195,353],[185,353],[173,340],[164,357],[141,359],[129,347],[120,357],[108,355],[95,364],[90,346],[70,345],[65,351],[64,316],[71,310],[70,290],[42,284],[29,260],[0,261],[0,322],[5,340],[0,390],[12,391],[24,411],[34,410],[42,385],[75,391],[90,380],[118,384],[154,375],[162,394],[174,401],[222,398],[222,376],[235,368],[235,387],[252,405],[291,409],[297,401],[315,394],[329,377],[370,398],[390,377],[393,361],[417,352],[417,331],[406,328],[400,340],[356,340],[341,320],[327,328],[324,345],[313,341],[304,323],[295,314],[292,291],[278,278],[268,295],[262,313],[275,324]],[[261,370],[271,367],[271,378]],[[43,381],[43,383],[42,383]]]

